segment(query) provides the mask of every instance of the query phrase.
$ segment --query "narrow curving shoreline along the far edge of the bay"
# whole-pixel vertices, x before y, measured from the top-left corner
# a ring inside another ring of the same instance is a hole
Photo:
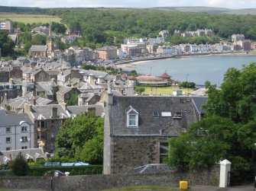
[[[123,62],[116,62],[114,65],[118,68],[125,68],[131,65],[138,65],[145,62],[152,62],[154,60],[161,60],[161,59],[180,59],[180,58],[186,58],[190,56],[251,56],[256,55],[256,52],[232,52],[232,53],[195,53],[195,54],[178,54],[178,55],[170,55],[170,56],[159,56],[159,57],[152,57],[152,58],[141,58],[141,59],[130,59],[125,60]]]

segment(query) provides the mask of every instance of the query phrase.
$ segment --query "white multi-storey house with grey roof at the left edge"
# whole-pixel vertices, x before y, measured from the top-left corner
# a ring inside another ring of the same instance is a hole
[[[35,148],[34,123],[28,114],[0,110],[0,151]]]

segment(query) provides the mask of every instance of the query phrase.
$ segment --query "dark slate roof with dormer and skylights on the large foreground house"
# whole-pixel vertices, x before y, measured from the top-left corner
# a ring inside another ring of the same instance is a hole
[[[138,128],[126,125],[125,110],[130,106],[139,113]],[[154,117],[153,112],[159,116]],[[170,112],[171,116],[162,116],[162,112]],[[177,112],[182,117],[174,117]],[[192,97],[114,96],[111,115],[114,136],[178,136],[196,122]]]

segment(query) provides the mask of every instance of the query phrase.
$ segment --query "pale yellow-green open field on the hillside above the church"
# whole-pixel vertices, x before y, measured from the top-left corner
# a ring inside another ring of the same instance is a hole
[[[9,19],[11,21],[17,21],[24,24],[33,23],[60,23],[61,18],[53,17],[46,14],[11,14],[11,13],[0,13],[0,20]]]

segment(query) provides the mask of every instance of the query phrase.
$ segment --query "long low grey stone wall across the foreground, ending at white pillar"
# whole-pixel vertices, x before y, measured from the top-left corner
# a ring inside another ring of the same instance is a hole
[[[180,180],[190,185],[219,185],[219,165],[212,170],[191,171],[189,173],[146,173],[146,174],[111,174],[71,177],[3,177],[2,189],[44,189],[62,190],[99,190],[120,188],[134,185],[156,185],[178,187]]]

